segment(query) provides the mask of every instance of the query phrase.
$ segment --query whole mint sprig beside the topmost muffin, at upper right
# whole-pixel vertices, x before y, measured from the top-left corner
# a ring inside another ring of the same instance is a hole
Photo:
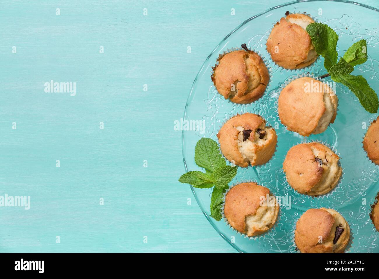
[[[366,40],[362,39],[354,43],[337,63],[337,33],[328,25],[318,22],[309,24],[307,32],[317,54],[324,57],[324,67],[332,80],[347,86],[358,97],[365,110],[376,113],[379,101],[375,91],[363,76],[350,74],[354,66],[367,61]]]

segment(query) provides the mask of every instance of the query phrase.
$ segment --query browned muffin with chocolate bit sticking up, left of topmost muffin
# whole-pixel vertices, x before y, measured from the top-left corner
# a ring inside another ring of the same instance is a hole
[[[247,104],[258,100],[265,93],[269,74],[262,58],[246,48],[220,55],[218,65],[213,67],[211,79],[225,99]]]

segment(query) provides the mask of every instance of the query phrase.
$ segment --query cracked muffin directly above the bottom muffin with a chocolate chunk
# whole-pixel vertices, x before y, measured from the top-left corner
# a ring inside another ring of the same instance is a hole
[[[341,177],[340,157],[318,142],[291,147],[283,162],[288,184],[301,194],[323,195],[331,191]]]

